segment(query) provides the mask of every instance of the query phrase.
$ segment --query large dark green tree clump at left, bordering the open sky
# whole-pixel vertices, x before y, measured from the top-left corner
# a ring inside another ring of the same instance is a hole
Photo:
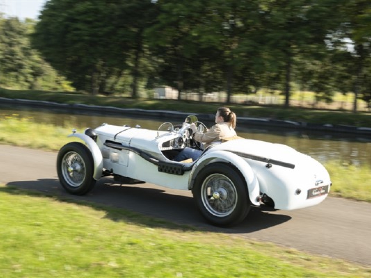
[[[141,0],[48,1],[33,44],[78,90],[105,93],[128,70],[136,92],[141,33],[151,23],[153,6]]]

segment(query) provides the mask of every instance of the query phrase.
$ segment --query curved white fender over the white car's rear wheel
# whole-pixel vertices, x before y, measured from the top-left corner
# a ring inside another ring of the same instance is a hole
[[[190,184],[188,185],[188,188],[193,188],[194,179],[196,178],[198,172],[200,172],[205,165],[221,161],[231,163],[242,173],[247,184],[247,190],[249,191],[249,198],[251,203],[253,205],[259,205],[259,181],[257,180],[251,166],[240,156],[235,155],[232,152],[227,152],[225,150],[216,150],[214,152],[207,153],[197,160],[196,165],[193,167],[190,175]]]

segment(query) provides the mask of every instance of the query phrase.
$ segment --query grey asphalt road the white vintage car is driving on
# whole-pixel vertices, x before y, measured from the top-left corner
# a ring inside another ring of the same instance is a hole
[[[0,183],[68,195],[59,185],[56,152],[0,145]],[[148,183],[119,186],[104,178],[86,196],[69,197],[129,209],[149,216],[190,224],[202,230],[269,241],[312,254],[371,266],[371,204],[328,197],[296,211],[254,207],[234,228],[216,228],[198,214],[190,192]]]

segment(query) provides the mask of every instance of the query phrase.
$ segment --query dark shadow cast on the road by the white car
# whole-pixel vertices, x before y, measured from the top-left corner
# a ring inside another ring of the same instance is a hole
[[[10,182],[7,187],[0,188],[0,191],[41,195],[63,202],[82,203],[95,209],[105,210],[105,217],[114,221],[129,221],[139,225],[181,230],[248,234],[283,224],[291,219],[290,216],[279,214],[274,209],[252,206],[247,218],[241,224],[232,228],[219,228],[207,224],[197,211],[189,192],[169,193],[160,187],[148,187],[145,184],[138,186],[112,184],[112,179],[104,178],[100,179],[95,188],[84,196],[70,195],[60,186],[57,178]],[[118,213],[117,209],[110,208],[120,208],[124,211]],[[157,221],[152,221],[154,218]],[[167,221],[176,225],[169,225]]]

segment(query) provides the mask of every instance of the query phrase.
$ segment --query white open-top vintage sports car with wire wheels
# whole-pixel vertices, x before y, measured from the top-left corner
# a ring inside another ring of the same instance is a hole
[[[76,141],[58,153],[57,171],[69,193],[83,195],[104,176],[121,184],[144,182],[191,190],[196,206],[211,224],[235,225],[252,205],[292,210],[317,205],[328,195],[331,180],[318,161],[286,145],[229,138],[206,148],[196,161],[172,159],[185,147],[201,148],[193,140],[190,122],[170,122],[158,130],[102,124],[73,133]]]

